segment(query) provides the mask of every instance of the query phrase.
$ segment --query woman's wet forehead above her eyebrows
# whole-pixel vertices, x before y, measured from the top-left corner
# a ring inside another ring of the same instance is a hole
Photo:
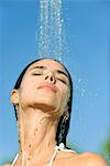
[[[30,68],[30,69],[33,69],[35,66],[46,66],[47,69],[51,69],[51,70],[62,70],[64,72],[67,73],[67,71],[65,70],[65,68],[57,61],[54,61],[54,60],[40,60],[35,63],[33,63]]]

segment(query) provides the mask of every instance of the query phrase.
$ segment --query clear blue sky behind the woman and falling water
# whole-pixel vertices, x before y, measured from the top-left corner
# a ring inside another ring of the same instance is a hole
[[[0,1],[0,164],[18,152],[18,126],[10,92],[21,70],[37,59],[38,3]],[[64,0],[65,65],[74,80],[67,141],[99,152],[109,131],[110,1]]]

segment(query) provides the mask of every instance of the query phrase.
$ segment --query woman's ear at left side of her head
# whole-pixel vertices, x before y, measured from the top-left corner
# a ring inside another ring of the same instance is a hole
[[[11,103],[12,104],[18,104],[19,103],[19,92],[18,92],[18,90],[13,90],[11,92]]]

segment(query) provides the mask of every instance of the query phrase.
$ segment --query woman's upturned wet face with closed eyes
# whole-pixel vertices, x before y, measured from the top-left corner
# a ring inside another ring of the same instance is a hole
[[[69,80],[66,70],[54,60],[41,60],[25,72],[19,92],[19,104],[51,112],[67,103]]]

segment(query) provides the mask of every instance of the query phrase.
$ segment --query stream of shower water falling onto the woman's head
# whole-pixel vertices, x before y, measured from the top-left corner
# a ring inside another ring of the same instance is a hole
[[[40,0],[38,55],[62,61],[62,0]]]

